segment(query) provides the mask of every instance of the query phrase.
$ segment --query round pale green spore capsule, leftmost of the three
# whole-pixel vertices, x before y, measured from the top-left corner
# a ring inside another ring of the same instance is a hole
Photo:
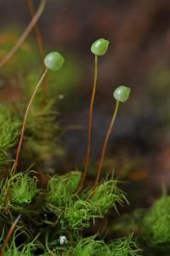
[[[46,55],[44,64],[51,71],[58,71],[64,64],[65,59],[58,52],[52,52]]]

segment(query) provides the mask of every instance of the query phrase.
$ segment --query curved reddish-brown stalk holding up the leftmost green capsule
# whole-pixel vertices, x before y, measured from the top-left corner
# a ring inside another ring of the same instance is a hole
[[[28,105],[27,105],[27,108],[26,108],[26,114],[25,114],[25,117],[24,117],[24,121],[23,121],[23,124],[22,124],[22,128],[21,128],[21,131],[20,131],[20,141],[19,141],[19,145],[17,147],[17,151],[16,151],[16,156],[15,156],[15,161],[14,161],[14,168],[13,168],[13,173],[12,173],[12,180],[14,178],[14,175],[16,173],[16,170],[17,170],[17,167],[18,167],[18,163],[19,163],[19,158],[20,158],[20,149],[21,149],[21,145],[23,143],[23,139],[24,139],[24,134],[25,134],[25,130],[26,130],[26,122],[27,122],[27,117],[28,117],[28,114],[29,114],[29,111],[31,109],[31,105],[33,103],[33,100],[37,94],[37,91],[38,91],[38,88],[40,87],[40,85],[42,84],[42,81],[43,79],[46,77],[46,74],[48,72],[48,69],[45,69],[45,71],[43,71],[42,73],[42,77],[40,78],[39,82],[37,83],[37,86],[33,92],[33,94],[31,95],[31,100],[29,101]],[[10,191],[11,191],[11,185],[8,185],[8,189],[7,189],[7,192],[6,192],[6,196],[4,198],[4,201],[3,201],[3,204],[6,205],[7,202],[8,202],[8,196],[10,196]]]

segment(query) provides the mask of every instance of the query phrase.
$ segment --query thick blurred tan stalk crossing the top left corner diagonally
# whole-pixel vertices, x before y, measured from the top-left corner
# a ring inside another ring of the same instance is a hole
[[[43,9],[45,7],[46,2],[47,2],[47,0],[41,0],[41,3],[40,3],[40,5],[37,9],[37,12],[34,14],[31,22],[26,27],[26,30],[21,34],[20,38],[14,44],[14,47],[8,52],[8,54],[6,54],[3,57],[3,59],[0,60],[0,68],[2,68],[3,65],[5,65],[8,62],[8,60],[10,60],[14,56],[14,54],[20,48],[22,43],[24,43],[24,41],[26,40],[26,37],[28,37],[28,35],[30,34],[32,28],[37,24],[37,20],[40,18],[41,14],[43,12]]]

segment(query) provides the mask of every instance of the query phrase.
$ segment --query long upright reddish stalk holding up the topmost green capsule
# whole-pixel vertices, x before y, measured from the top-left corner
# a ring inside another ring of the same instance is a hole
[[[78,191],[82,190],[82,186],[84,185],[85,179],[88,174],[89,156],[90,156],[91,140],[92,140],[92,118],[93,118],[94,97],[95,97],[95,91],[96,91],[96,85],[97,85],[97,77],[98,77],[98,56],[95,55],[94,84],[93,84],[93,90],[92,90],[92,95],[90,100],[89,111],[88,111],[88,147],[87,147],[86,156],[85,156],[85,164],[84,164],[84,171],[82,174],[82,180],[79,185]]]

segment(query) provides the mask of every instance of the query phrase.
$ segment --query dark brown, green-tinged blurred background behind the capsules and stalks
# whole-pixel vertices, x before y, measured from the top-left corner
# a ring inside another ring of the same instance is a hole
[[[37,9],[39,1],[34,3]],[[10,49],[30,20],[26,0],[0,0],[1,57],[4,45]],[[135,207],[147,206],[161,194],[162,185],[170,188],[170,1],[48,0],[38,26],[45,53],[57,49],[66,60],[64,74],[56,75],[53,88],[66,148],[62,162],[55,162],[56,169],[83,167],[94,75],[90,46],[105,37],[110,47],[99,57],[91,172],[111,122],[113,90],[127,85],[132,94],[121,105],[104,170],[125,181],[123,190]],[[25,58],[0,71],[1,101],[20,100],[23,77],[41,65],[35,31],[22,50],[28,50]]]

